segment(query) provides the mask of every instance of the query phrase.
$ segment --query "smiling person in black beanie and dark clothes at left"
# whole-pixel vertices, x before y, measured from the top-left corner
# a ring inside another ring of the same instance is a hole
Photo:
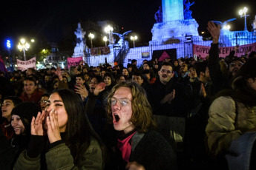
[[[14,129],[11,143],[0,136],[0,167],[1,169],[13,169],[16,160],[24,149],[27,149],[30,141],[30,123],[33,116],[39,112],[38,106],[33,102],[17,104],[11,112],[11,125]],[[24,169],[19,167],[19,169]]]

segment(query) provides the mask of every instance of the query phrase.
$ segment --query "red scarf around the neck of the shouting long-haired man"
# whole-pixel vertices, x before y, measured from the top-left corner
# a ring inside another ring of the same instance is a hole
[[[122,152],[122,159],[124,159],[126,162],[129,161],[129,157],[131,154],[131,143],[129,143],[129,141],[136,132],[137,131],[135,131],[133,134],[131,134],[130,136],[126,137],[123,140],[117,139],[117,148],[120,150],[120,152]]]

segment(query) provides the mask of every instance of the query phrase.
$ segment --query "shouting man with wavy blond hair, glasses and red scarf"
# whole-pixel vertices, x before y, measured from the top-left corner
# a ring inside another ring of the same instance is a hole
[[[108,95],[106,112],[117,132],[114,163],[119,169],[177,169],[176,153],[154,131],[156,123],[151,106],[139,84],[132,81],[116,84]]]

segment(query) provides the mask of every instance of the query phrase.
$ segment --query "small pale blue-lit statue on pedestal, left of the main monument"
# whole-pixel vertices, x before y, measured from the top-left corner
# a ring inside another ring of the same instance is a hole
[[[83,31],[81,24],[78,23],[78,28],[76,29],[76,31],[74,32],[76,35],[76,47],[73,50],[73,56],[72,58],[76,58],[76,57],[85,57],[85,31]]]

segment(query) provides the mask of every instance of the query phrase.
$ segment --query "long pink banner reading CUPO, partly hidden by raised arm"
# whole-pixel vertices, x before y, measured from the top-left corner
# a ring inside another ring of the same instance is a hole
[[[209,55],[209,50],[211,47],[208,46],[200,46],[197,44],[193,44],[193,53],[194,55],[201,56],[201,58],[206,58]],[[219,57],[225,58],[227,55],[232,52],[234,47],[219,47]],[[256,50],[256,43],[246,44],[239,46],[238,50],[235,52],[235,56],[240,57],[244,55],[246,52],[249,54],[252,51]]]

